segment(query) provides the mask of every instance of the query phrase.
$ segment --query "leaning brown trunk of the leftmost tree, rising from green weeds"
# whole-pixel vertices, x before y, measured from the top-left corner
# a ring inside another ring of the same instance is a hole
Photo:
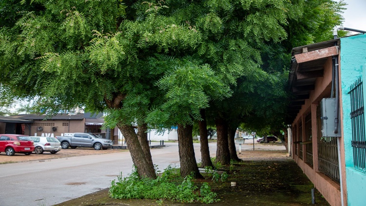
[[[152,161],[151,163],[147,161],[145,156],[145,152],[147,151],[142,149],[139,138],[137,137],[132,125],[118,125],[118,128],[126,139],[128,150],[130,150],[132,161],[136,167],[137,173],[140,177],[156,179],[154,165],[152,164]]]

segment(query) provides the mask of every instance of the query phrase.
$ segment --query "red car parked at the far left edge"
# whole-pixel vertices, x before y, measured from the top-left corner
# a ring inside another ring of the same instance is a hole
[[[34,150],[34,142],[27,135],[0,134],[0,152],[12,156],[16,152],[30,155]]]

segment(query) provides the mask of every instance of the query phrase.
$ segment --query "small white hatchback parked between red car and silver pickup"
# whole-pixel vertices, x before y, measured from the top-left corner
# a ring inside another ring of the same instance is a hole
[[[61,143],[55,137],[30,137],[34,144],[36,145],[34,148],[34,153],[42,154],[44,151],[49,151],[52,154],[56,154],[61,150]]]

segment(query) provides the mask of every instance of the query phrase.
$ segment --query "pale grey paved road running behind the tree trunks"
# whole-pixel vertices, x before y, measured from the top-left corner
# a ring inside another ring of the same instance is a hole
[[[163,170],[168,165],[179,166],[178,143],[151,150],[154,164]],[[194,144],[200,161],[200,144]],[[215,156],[216,144],[210,153]],[[251,150],[252,145],[242,145]],[[271,150],[278,146],[257,146]],[[237,147],[238,148],[238,147]],[[0,206],[51,206],[81,197],[110,186],[121,174],[131,172],[129,152],[88,155],[0,165]]]

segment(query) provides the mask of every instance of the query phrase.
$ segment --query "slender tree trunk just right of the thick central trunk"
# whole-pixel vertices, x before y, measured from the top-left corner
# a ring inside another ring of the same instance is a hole
[[[201,159],[202,159],[202,168],[212,167],[213,164],[210,157],[210,150],[208,148],[208,138],[207,138],[207,122],[206,122],[206,114],[204,110],[201,110],[201,117],[203,121],[198,122],[198,126],[200,128],[200,143],[201,143]]]

